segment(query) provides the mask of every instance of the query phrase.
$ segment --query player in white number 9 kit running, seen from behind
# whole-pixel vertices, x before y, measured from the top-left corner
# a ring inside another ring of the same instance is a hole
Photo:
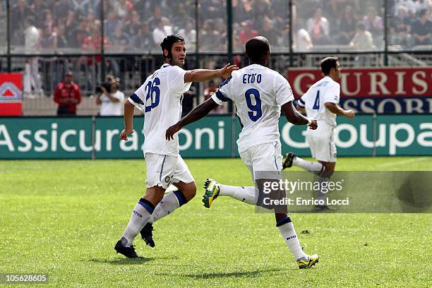
[[[293,105],[294,96],[288,81],[267,67],[270,59],[270,44],[265,37],[253,37],[246,42],[246,56],[249,66],[232,73],[219,90],[207,101],[192,110],[190,114],[167,130],[167,139],[193,121],[203,118],[223,102],[232,100],[242,124],[237,144],[241,160],[248,167],[258,190],[260,183],[268,179],[279,180],[282,175],[282,154],[279,133],[280,110],[289,122],[317,128],[315,119],[301,115]],[[270,172],[260,177],[260,172]],[[272,175],[271,175],[272,174]],[[271,178],[273,177],[274,178]],[[204,206],[210,208],[217,196],[230,196],[250,205],[260,205],[256,187],[227,186],[207,179],[204,184]],[[262,196],[262,193],[258,193]],[[318,262],[318,255],[308,256],[301,249],[287,210],[275,210],[276,226],[287,246],[292,251],[299,268],[309,268]]]

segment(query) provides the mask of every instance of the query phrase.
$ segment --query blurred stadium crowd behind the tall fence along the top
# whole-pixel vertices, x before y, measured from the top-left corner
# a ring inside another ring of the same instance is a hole
[[[432,0],[387,0],[390,44],[411,48],[432,44]],[[274,50],[289,48],[289,1],[232,0],[234,50],[255,35],[268,38]],[[294,1],[294,49],[302,52],[325,45],[352,49],[383,48],[383,1]],[[164,36],[177,32],[188,51],[196,48],[195,0],[17,0],[11,6],[13,46],[24,46],[33,34],[36,50],[99,52],[102,25],[107,52],[158,52]],[[227,50],[226,2],[199,1],[199,50]],[[16,20],[22,19],[22,20]],[[26,27],[25,19],[37,32]],[[34,48],[32,48],[33,50]],[[31,51],[36,52],[36,51]]]

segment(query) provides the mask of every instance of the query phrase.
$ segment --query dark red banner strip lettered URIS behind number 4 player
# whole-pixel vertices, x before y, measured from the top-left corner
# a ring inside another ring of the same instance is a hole
[[[288,81],[299,98],[323,77],[318,69],[292,68]],[[342,68],[341,97],[432,96],[432,68]]]

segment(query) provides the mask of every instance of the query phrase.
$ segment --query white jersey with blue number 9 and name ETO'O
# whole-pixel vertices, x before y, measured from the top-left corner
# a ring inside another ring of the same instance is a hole
[[[237,145],[243,152],[258,144],[280,142],[280,107],[294,101],[287,79],[270,68],[252,64],[232,73],[212,100],[222,105],[232,100],[241,121]]]

